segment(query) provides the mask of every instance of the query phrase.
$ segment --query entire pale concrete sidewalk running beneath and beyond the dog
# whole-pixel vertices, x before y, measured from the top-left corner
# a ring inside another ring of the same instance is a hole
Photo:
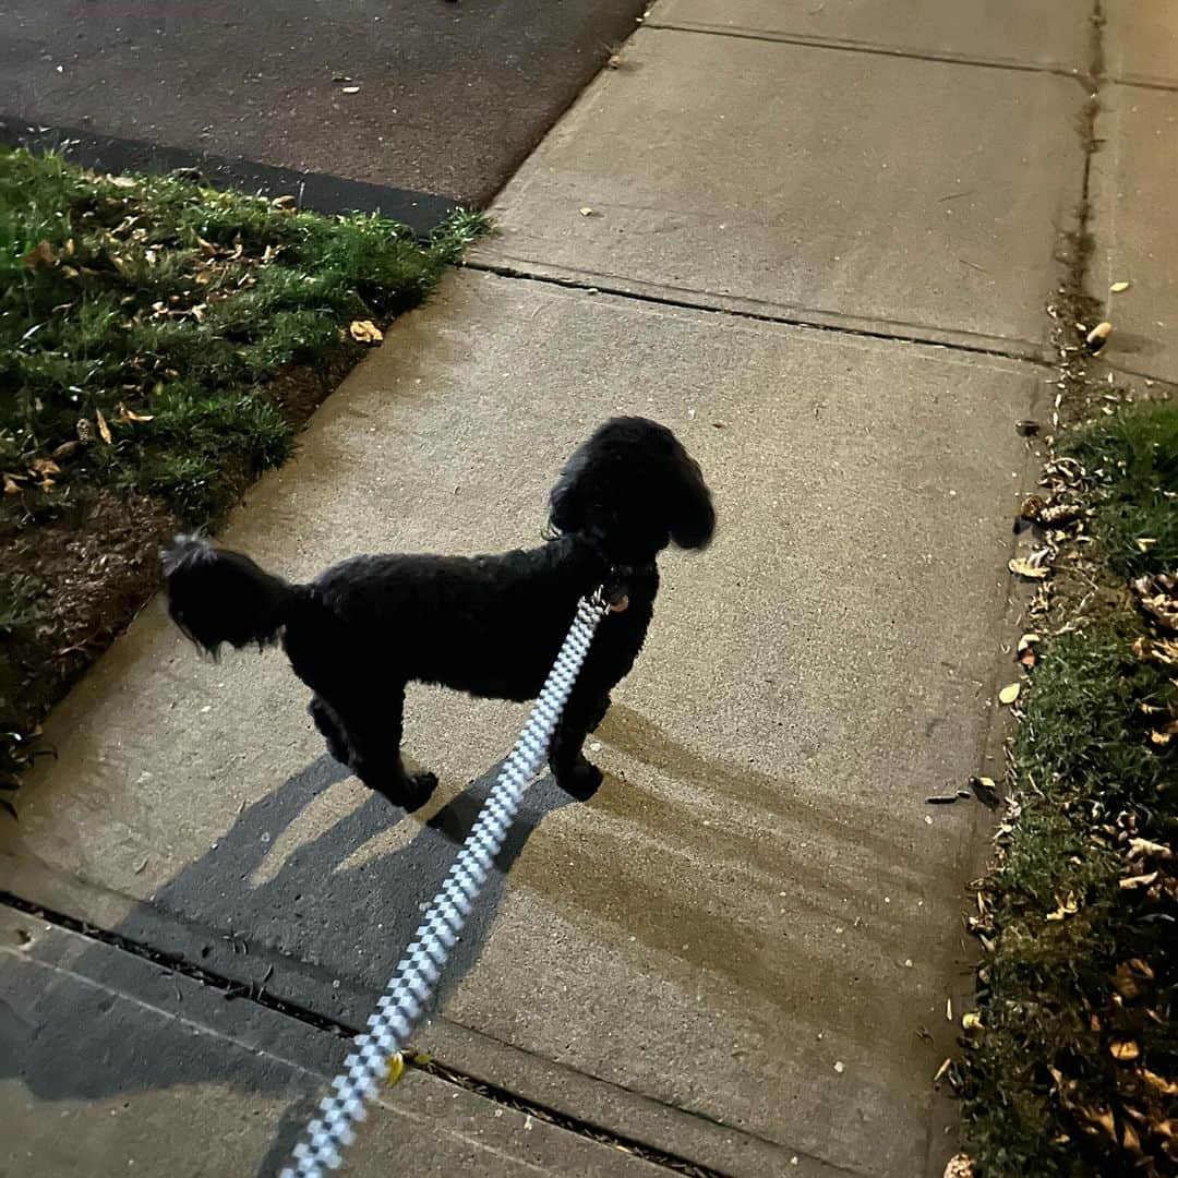
[[[589,805],[532,788],[421,1032],[492,1094],[431,1105],[432,1136],[412,1121],[426,1078],[386,1101],[382,1133],[436,1172],[909,1178],[953,1150],[932,1081],[972,985],[964,886],[988,819],[925,800],[1001,773],[1010,521],[1037,461],[1014,423],[1054,392],[1043,309],[1084,193],[1093,26],[1065,0],[1034,20],[902,7],[788,24],[749,0],[729,27],[730,4],[656,5],[501,194],[502,233],[224,537],[292,577],[527,544],[563,457],[618,411],[673,426],[715,490],[716,542],[663,562],[597,734],[604,786]],[[324,756],[304,703],[279,655],[205,663],[145,611],[54,715],[60,759],[0,834],[7,887],[264,985],[292,1008],[267,1025],[305,1024],[291,1035],[362,1026],[523,709],[415,690],[406,750],[442,783],[406,816]],[[35,984],[27,948],[0,957],[6,985],[45,991],[16,1026],[121,968],[99,940],[72,952],[85,967],[54,957]],[[290,1143],[333,1057],[291,1047],[252,1078],[247,1031],[221,1026],[192,1074],[145,1067],[159,1124],[196,1085],[207,1124],[247,1098]],[[134,1072],[99,1051],[93,1079],[55,1088],[18,1041],[0,1091],[33,1141]],[[560,1120],[542,1152],[503,1123],[515,1107]],[[130,1134],[74,1124],[21,1172],[95,1151],[127,1172]],[[450,1152],[456,1133],[495,1159]],[[135,1153],[135,1172],[267,1172],[263,1137],[204,1170]],[[352,1172],[384,1165],[357,1149]]]

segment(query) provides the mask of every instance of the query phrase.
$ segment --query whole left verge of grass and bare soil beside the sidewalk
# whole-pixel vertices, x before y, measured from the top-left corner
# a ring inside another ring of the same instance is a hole
[[[214,525],[284,462],[364,340],[484,227],[459,213],[422,244],[378,217],[0,152],[0,786],[152,587],[123,593],[106,557],[153,583],[155,532]],[[112,590],[113,621],[95,613]]]

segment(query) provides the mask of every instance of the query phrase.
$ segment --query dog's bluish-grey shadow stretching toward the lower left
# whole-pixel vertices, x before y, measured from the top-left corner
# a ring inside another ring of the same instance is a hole
[[[343,975],[346,985],[338,995],[340,1006],[349,993],[352,1004],[359,1004],[344,1021],[363,1025],[497,773],[498,767],[479,777],[424,822],[372,794],[320,833],[292,842],[292,823],[300,816],[313,821],[312,802],[349,776],[331,757],[322,756],[274,793],[243,809],[214,847],[155,892],[150,909],[144,906],[132,913],[114,931],[138,940],[148,912],[179,915],[190,945],[196,939],[186,958],[214,968],[218,958],[236,955],[239,974],[258,975],[254,985],[267,969],[266,958],[273,961],[274,953],[282,953],[296,973],[316,979],[315,1006],[329,1017],[336,1013],[330,1010],[337,997],[332,978]],[[529,788],[443,971],[431,1010],[444,1004],[478,961],[507,875],[531,833],[547,814],[571,801],[551,777]],[[284,847],[289,849],[282,858]],[[267,863],[273,855],[282,858],[277,869]],[[349,865],[349,860],[353,862]],[[72,964],[70,977],[25,995],[20,1008],[0,1010],[0,1078],[19,1076],[42,1100],[93,1100],[206,1081],[290,1096],[289,1076],[283,1070],[243,1066],[239,1055],[216,1050],[150,1047],[147,1032],[126,1018],[112,1017],[117,1004],[106,990],[77,985],[78,975],[108,974],[111,952],[106,946],[85,951]],[[278,975],[272,984],[280,993]],[[177,1011],[184,1013],[183,1007]],[[79,1025],[86,1027],[87,1060],[100,1061],[100,1066],[78,1066],[79,1045],[71,1028]],[[302,1094],[287,1110],[291,1116],[284,1117],[285,1132],[279,1136],[293,1132],[312,1104]]]

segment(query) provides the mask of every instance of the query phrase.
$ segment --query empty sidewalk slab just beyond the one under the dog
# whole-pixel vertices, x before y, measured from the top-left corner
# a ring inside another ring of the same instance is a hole
[[[476,259],[1039,350],[1084,174],[1077,82],[667,29],[640,32],[627,59],[507,186]]]

